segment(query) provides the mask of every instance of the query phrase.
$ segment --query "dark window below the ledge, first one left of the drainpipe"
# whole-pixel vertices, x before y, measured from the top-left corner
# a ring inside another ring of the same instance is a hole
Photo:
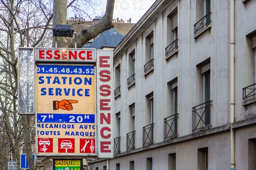
[[[198,149],[198,170],[208,170],[208,147]]]

